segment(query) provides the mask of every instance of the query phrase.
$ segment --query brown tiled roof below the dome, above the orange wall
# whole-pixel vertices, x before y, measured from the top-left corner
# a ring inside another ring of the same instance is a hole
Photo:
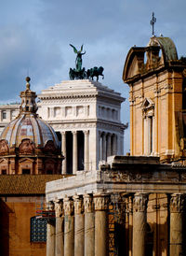
[[[64,175],[0,175],[0,194],[45,194],[46,182],[64,177]]]

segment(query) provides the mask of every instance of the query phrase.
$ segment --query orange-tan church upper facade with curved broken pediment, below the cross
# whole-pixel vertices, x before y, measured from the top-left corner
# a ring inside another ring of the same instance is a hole
[[[123,79],[130,88],[131,155],[184,164],[185,70],[168,37],[153,36],[147,47],[129,50]]]

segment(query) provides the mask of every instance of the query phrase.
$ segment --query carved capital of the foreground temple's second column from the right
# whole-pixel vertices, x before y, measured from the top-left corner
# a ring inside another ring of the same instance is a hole
[[[137,192],[133,199],[133,210],[134,211],[146,211],[148,203],[148,194],[144,192]]]

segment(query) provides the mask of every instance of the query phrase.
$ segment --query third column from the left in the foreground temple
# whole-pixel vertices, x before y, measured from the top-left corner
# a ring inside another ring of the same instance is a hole
[[[73,220],[73,200],[65,197],[64,206],[64,255],[74,254],[74,220]]]

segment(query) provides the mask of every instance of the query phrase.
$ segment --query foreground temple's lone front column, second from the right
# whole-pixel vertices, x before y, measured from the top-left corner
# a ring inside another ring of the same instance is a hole
[[[133,256],[145,256],[147,203],[147,193],[135,193],[133,200]]]

